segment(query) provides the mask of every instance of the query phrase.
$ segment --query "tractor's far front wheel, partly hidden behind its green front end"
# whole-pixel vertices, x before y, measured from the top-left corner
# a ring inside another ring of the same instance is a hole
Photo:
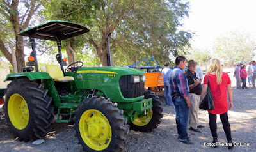
[[[147,110],[147,114],[141,117],[136,116],[132,123],[129,123],[131,129],[140,132],[152,132],[161,123],[163,118],[163,107],[159,97],[150,91],[144,91],[145,99],[152,98],[153,107]]]

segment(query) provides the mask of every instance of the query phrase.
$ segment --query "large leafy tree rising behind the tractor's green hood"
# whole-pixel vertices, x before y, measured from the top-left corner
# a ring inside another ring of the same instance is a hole
[[[177,29],[185,15],[188,3],[182,1],[102,1],[101,9],[93,14],[95,26],[89,42],[104,66],[109,33],[115,60],[126,56],[133,63],[134,58],[155,56],[159,63],[164,63],[170,54],[177,56],[189,44],[191,33]]]

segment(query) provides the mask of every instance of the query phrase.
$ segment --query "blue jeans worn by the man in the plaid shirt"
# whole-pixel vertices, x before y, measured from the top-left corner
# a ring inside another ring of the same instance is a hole
[[[188,120],[189,120],[189,107],[187,107],[184,98],[175,98],[173,100],[176,112],[176,125],[181,141],[188,139]]]

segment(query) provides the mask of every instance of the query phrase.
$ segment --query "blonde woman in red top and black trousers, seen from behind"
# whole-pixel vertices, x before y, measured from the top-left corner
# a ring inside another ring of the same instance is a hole
[[[218,59],[212,59],[209,65],[209,70],[207,70],[207,75],[209,79],[209,86],[212,92],[213,101],[214,101],[214,110],[209,110],[209,125],[213,137],[213,143],[218,142],[217,135],[217,114],[220,114],[220,119],[226,133],[228,140],[228,149],[233,149],[234,144],[232,143],[230,124],[228,121],[228,109],[233,107],[233,98],[232,98],[232,87],[231,80],[227,73],[223,72],[223,68]],[[203,99],[207,92],[207,78],[204,77],[203,91],[201,94],[201,99]],[[228,93],[228,98],[227,98]],[[218,144],[214,144],[216,148]]]

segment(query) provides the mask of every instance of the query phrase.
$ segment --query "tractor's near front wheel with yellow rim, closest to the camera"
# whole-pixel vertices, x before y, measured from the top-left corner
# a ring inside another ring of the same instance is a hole
[[[122,110],[104,98],[88,98],[75,110],[74,128],[86,151],[122,151],[129,128]]]

